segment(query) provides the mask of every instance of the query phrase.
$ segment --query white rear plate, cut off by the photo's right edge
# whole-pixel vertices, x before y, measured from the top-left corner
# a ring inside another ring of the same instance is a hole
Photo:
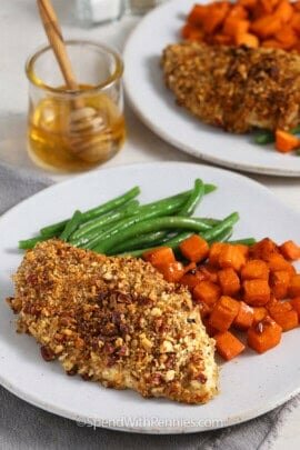
[[[206,1],[198,1],[204,3]],[[300,176],[300,158],[258,146],[253,136],[234,136],[206,126],[174,102],[166,88],[160,58],[180,40],[180,28],[194,0],[172,0],[139,23],[124,50],[127,97],[141,120],[179,149],[217,164],[256,173]]]

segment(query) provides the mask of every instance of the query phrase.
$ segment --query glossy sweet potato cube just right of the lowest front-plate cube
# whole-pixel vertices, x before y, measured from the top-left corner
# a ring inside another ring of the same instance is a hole
[[[264,353],[267,350],[279,344],[281,334],[281,327],[267,316],[261,322],[249,328],[247,331],[247,342],[258,353]]]

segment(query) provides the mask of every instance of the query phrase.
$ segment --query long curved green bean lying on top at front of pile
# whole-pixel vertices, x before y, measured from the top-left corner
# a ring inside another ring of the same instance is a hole
[[[220,227],[217,226],[217,227]],[[216,228],[217,228],[216,227]],[[120,242],[123,242],[127,239],[131,239],[137,234],[143,234],[152,231],[159,230],[170,230],[170,229],[186,229],[192,231],[206,231],[208,230],[208,226],[199,222],[194,219],[186,218],[186,217],[157,217],[152,220],[143,220],[140,223],[133,223],[126,229],[120,230],[119,232],[114,233],[110,238],[101,240],[94,248],[94,251],[99,253],[106,253],[109,250],[112,250]],[[210,228],[209,228],[210,229]],[[211,229],[210,229],[211,231]],[[209,231],[208,231],[209,232]]]

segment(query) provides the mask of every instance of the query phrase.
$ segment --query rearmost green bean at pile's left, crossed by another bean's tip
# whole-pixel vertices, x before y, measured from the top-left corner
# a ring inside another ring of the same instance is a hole
[[[129,200],[134,199],[139,193],[140,193],[140,188],[134,187],[120,197],[116,197],[114,199],[109,200],[106,203],[98,206],[97,208],[92,208],[86,212],[82,212],[82,220],[88,221],[88,220],[94,219],[96,217],[99,217],[106,212],[109,212],[109,211],[113,210],[114,208],[120,207],[121,204],[128,202]],[[53,236],[58,236],[63,230],[63,228],[66,227],[66,224],[69,220],[70,219],[62,220],[61,222],[44,227],[40,230],[40,232],[42,236],[44,236],[47,238],[52,238]]]

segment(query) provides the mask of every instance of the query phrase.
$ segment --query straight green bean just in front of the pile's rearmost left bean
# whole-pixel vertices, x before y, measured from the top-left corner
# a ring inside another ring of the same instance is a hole
[[[103,226],[107,226],[112,222],[117,222],[118,220],[124,219],[136,211],[138,211],[139,202],[138,200],[130,200],[129,202],[122,204],[116,211],[107,212],[103,216],[100,216],[97,219],[89,220],[88,222],[83,223],[72,236],[71,242],[76,246],[77,241],[82,237],[88,237],[92,234],[94,231],[100,231]]]

